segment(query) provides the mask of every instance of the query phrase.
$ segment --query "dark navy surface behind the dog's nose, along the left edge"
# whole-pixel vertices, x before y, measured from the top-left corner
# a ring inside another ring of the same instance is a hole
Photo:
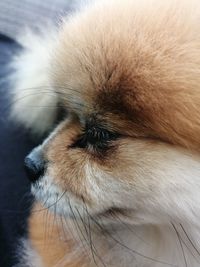
[[[0,266],[14,264],[16,244],[26,234],[30,209],[30,185],[23,169],[23,160],[33,144],[22,129],[8,120],[11,87],[10,58],[20,49],[9,38],[0,35]]]

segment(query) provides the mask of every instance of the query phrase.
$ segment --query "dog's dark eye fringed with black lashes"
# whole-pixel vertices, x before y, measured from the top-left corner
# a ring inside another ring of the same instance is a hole
[[[83,134],[73,144],[73,147],[87,148],[92,146],[95,149],[106,149],[111,141],[116,140],[119,134],[111,132],[98,126],[86,127]]]

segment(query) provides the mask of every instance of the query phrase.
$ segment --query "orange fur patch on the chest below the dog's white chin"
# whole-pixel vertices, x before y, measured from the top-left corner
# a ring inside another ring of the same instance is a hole
[[[34,206],[29,225],[32,245],[42,257],[45,267],[56,265],[75,249],[75,241],[71,239],[70,230],[67,232],[65,229],[63,232],[61,219],[55,218],[40,204]],[[85,258],[85,255],[73,257],[67,267],[82,267]]]

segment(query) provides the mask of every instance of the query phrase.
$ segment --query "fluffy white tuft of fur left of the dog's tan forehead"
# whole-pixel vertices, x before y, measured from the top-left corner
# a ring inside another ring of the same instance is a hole
[[[53,34],[28,32],[11,62],[11,119],[37,135],[48,131],[57,116],[58,97],[48,73],[53,43]]]

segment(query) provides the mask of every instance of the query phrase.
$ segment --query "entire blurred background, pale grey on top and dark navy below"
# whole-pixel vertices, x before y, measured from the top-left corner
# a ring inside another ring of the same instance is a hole
[[[25,28],[37,30],[73,12],[75,0],[0,0],[0,266],[17,263],[16,245],[26,235],[31,196],[23,161],[39,140],[9,120],[9,63]]]

